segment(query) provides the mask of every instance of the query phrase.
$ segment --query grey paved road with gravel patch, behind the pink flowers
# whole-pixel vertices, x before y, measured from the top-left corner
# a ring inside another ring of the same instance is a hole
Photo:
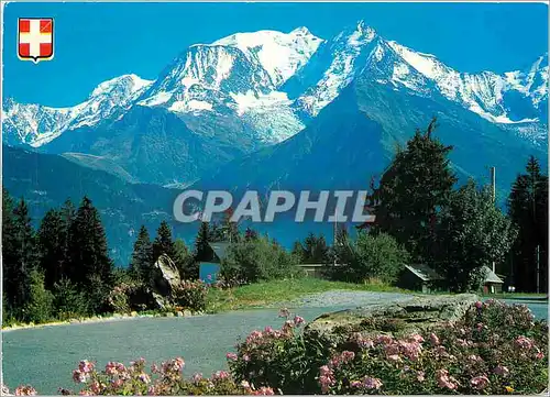
[[[399,294],[324,293],[294,302],[310,321],[328,311],[382,301],[409,299]],[[547,317],[547,305],[536,316]],[[183,356],[186,373],[210,375],[226,366],[226,353],[238,338],[266,326],[278,327],[277,309],[235,311],[191,318],[141,318],[103,323],[24,329],[3,334],[3,375],[8,386],[33,385],[40,394],[57,394],[73,387],[72,371],[81,359],[128,363],[143,356],[160,362]]]

